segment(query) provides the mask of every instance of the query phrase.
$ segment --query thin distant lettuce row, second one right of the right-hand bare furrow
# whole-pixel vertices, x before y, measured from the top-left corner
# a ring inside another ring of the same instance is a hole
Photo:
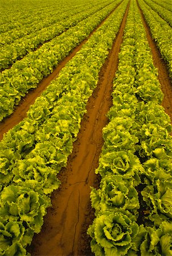
[[[172,27],[172,13],[151,0],[144,0],[150,8],[158,13]]]

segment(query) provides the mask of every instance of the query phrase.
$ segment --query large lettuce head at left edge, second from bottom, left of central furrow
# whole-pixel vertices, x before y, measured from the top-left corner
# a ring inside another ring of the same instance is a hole
[[[50,205],[48,196],[40,195],[30,187],[9,185],[1,192],[0,217],[9,221],[23,221],[28,228],[39,233]]]

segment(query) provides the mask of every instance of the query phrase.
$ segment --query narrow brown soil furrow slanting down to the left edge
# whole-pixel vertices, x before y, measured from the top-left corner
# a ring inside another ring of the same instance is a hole
[[[90,35],[87,36],[87,38],[84,39],[81,44],[79,44],[79,46],[75,47],[73,51],[69,53],[69,55],[66,56],[65,59],[57,65],[57,67],[48,77],[45,77],[43,80],[41,80],[37,88],[31,89],[28,94],[22,98],[19,105],[15,106],[14,112],[9,117],[4,118],[2,122],[0,122],[0,141],[3,138],[3,134],[7,133],[8,130],[17,125],[27,116],[27,111],[30,108],[30,105],[35,102],[36,98],[41,95],[41,93],[47,88],[51,81],[58,77],[59,72],[62,68],[65,67],[66,63],[68,63],[68,61],[74,57],[74,55],[82,48],[83,44],[85,44],[87,40],[89,40],[89,38],[94,34],[94,32],[97,31],[100,26],[102,26],[102,24],[116,10],[116,8],[118,8],[118,6],[116,6],[115,9],[113,9],[110,14],[108,14],[107,17],[102,20],[102,22],[100,22],[97,28],[95,28],[90,33]]]

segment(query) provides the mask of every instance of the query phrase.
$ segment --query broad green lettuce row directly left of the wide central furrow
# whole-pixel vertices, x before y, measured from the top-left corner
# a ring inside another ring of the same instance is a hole
[[[0,143],[0,254],[29,255],[127,9],[124,0]]]

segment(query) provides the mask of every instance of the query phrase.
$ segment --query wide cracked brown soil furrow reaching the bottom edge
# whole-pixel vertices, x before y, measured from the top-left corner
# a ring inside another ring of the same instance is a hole
[[[58,175],[60,189],[52,193],[52,207],[48,208],[41,233],[35,235],[28,250],[32,256],[93,255],[86,234],[94,217],[93,209],[90,210],[90,186],[98,187],[99,183],[94,171],[103,146],[102,129],[108,123],[106,113],[112,105],[112,81],[118,68],[128,8],[129,4],[100,70],[98,86],[87,102],[87,113],[82,119],[68,164]]]

